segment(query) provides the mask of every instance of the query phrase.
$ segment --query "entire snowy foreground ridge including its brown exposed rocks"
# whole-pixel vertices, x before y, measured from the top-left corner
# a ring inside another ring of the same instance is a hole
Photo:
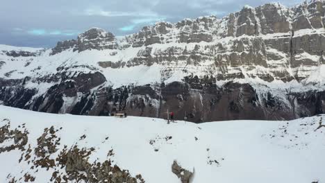
[[[1,182],[325,182],[324,115],[167,124],[0,111]]]

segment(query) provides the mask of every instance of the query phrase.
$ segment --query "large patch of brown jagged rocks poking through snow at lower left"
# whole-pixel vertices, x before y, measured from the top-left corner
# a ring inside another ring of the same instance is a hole
[[[8,175],[9,182],[38,182],[44,177],[34,177],[38,171],[49,171],[51,177],[47,182],[109,182],[109,183],[144,183],[142,175],[132,177],[127,170],[113,165],[110,159],[104,162],[90,162],[89,157],[94,148],[68,147],[61,144],[58,133],[62,130],[53,126],[45,128],[44,133],[35,139],[28,139],[29,132],[24,125],[13,130],[10,120],[0,121],[0,154],[19,150],[22,153],[19,164],[28,167],[23,177]],[[64,146],[64,148],[63,148]],[[15,152],[16,153],[16,152]],[[22,171],[22,172],[23,172]]]

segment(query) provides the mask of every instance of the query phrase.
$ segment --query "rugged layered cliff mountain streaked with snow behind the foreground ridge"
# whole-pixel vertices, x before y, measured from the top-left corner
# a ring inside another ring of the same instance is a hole
[[[218,19],[92,28],[53,49],[0,46],[0,103],[195,122],[297,119],[325,110],[325,2],[267,3]]]

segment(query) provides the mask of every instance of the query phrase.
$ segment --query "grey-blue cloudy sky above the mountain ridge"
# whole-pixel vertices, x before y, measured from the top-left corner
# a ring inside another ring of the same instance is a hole
[[[92,27],[115,35],[135,33],[156,21],[216,15],[221,18],[242,6],[270,0],[1,0],[0,44],[52,47]],[[302,0],[278,0],[294,6]]]

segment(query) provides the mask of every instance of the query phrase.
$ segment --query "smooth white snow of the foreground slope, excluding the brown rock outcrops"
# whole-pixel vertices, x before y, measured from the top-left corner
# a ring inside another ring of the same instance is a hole
[[[25,126],[32,150],[44,128],[53,125],[62,128],[56,132],[60,144],[51,155],[54,159],[65,145],[93,147],[89,162],[109,158],[149,183],[181,182],[172,173],[174,160],[194,171],[192,183],[325,182],[325,128],[317,129],[324,118],[167,124],[163,119],[45,114],[0,106],[0,129],[8,121],[11,130]],[[3,141],[0,148],[10,143]],[[115,155],[106,156],[111,149]],[[17,149],[0,153],[0,182],[25,173],[33,175],[35,182],[50,182],[57,167],[31,169],[32,164],[18,162],[21,154]],[[57,171],[64,173],[65,169]]]

